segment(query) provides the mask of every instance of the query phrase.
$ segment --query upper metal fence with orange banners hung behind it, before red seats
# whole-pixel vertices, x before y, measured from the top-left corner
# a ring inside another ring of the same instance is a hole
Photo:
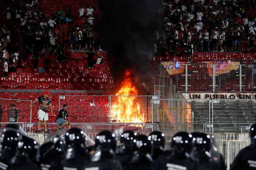
[[[216,60],[192,64],[162,62],[160,67],[158,78],[162,80],[157,85],[166,86],[165,79],[171,77],[182,92],[256,89],[256,60]]]

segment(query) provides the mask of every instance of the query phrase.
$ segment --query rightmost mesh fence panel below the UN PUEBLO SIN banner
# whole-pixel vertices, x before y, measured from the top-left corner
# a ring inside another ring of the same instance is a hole
[[[241,132],[256,121],[254,99],[218,99],[212,101],[210,122],[213,132]]]

